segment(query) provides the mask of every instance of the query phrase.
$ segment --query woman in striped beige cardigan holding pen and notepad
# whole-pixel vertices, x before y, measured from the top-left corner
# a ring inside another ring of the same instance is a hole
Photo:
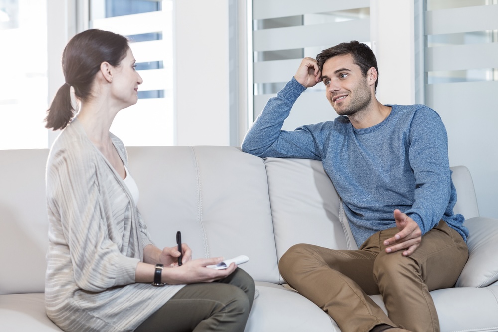
[[[127,39],[79,33],[62,67],[66,83],[46,118],[47,128],[64,129],[47,163],[47,315],[68,332],[243,331],[252,278],[235,264],[207,268],[222,258],[192,260],[186,244],[182,253],[155,247],[136,208],[126,150],[109,132],[118,111],[137,102],[142,83]]]

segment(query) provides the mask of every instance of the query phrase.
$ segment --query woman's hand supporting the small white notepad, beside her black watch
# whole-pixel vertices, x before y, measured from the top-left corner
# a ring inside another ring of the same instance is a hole
[[[162,282],[170,285],[193,284],[199,282],[212,282],[225,278],[235,271],[237,268],[235,263],[230,264],[229,267],[223,270],[215,270],[206,267],[208,265],[218,264],[222,260],[223,257],[185,260],[182,266],[176,264],[176,266],[164,268],[162,270]]]

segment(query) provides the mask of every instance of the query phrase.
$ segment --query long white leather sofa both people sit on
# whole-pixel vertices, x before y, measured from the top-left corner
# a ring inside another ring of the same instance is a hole
[[[246,331],[340,331],[283,285],[277,267],[295,243],[356,248],[320,162],[263,160],[215,146],[130,147],[128,154],[138,205],[158,246],[174,245],[181,230],[194,258],[249,256],[241,268],[256,280],[258,296]],[[43,299],[47,155],[46,149],[0,151],[0,331],[60,331]],[[453,171],[470,258],[458,287],[431,292],[441,331],[498,331],[498,220],[479,217],[467,168]],[[380,295],[373,299],[383,306]]]

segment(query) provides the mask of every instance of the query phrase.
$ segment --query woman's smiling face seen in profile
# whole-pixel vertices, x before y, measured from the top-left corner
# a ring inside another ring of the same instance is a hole
[[[135,58],[131,49],[128,48],[126,57],[121,60],[119,66],[114,68],[112,94],[123,104],[124,109],[138,101],[138,86],[143,82],[135,70]]]

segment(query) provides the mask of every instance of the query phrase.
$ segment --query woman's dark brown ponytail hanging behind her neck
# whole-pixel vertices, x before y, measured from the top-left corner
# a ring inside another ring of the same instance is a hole
[[[69,83],[64,83],[55,94],[54,100],[47,110],[45,128],[52,130],[64,129],[73,118],[74,111],[71,104],[71,86]]]

